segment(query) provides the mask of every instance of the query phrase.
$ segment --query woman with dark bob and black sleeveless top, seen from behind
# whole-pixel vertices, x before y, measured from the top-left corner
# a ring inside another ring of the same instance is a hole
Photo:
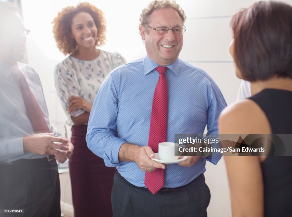
[[[259,1],[231,27],[236,75],[251,82],[251,97],[223,110],[219,133],[292,133],[292,7]],[[292,216],[292,156],[226,156],[225,163],[232,216]]]

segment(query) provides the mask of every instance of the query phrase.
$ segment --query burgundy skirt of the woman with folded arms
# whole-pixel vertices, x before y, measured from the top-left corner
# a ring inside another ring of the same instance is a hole
[[[74,217],[112,216],[114,168],[105,166],[103,159],[88,149],[86,131],[87,125],[72,126],[74,151],[69,159],[69,173]]]

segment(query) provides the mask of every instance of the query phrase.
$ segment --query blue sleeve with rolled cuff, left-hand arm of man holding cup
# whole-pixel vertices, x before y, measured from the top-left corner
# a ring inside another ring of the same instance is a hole
[[[117,91],[111,74],[105,79],[93,103],[88,121],[86,142],[88,148],[104,159],[105,165],[119,164],[119,149],[126,141],[118,137]]]

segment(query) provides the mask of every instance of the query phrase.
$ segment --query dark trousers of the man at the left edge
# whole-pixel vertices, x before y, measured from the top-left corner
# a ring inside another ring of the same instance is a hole
[[[0,164],[0,209],[24,213],[0,216],[55,217],[61,215],[60,180],[56,160],[21,159]]]

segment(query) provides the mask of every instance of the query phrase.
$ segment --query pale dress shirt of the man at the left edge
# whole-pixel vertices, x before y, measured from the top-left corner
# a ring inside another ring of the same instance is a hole
[[[22,137],[34,134],[34,129],[27,114],[20,87],[11,75],[14,67],[0,60],[0,163],[44,157],[23,151]],[[48,109],[39,75],[24,63],[18,63],[18,67],[24,73],[49,126]]]

